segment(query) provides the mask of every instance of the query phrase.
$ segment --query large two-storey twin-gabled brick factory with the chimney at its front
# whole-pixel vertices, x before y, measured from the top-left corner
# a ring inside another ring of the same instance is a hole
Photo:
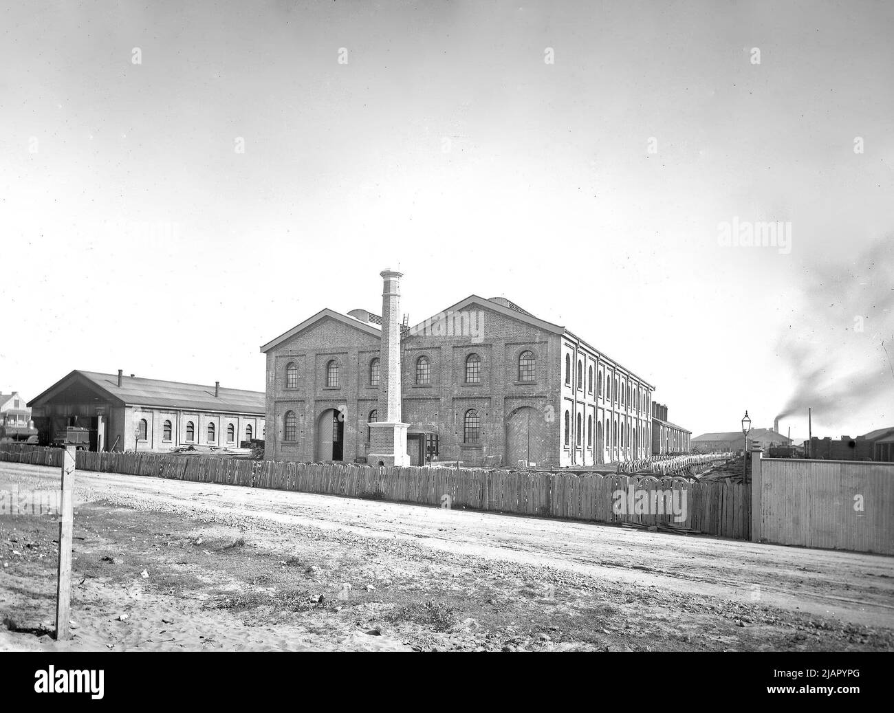
[[[505,298],[401,324],[401,273],[382,276],[381,316],[324,309],[261,347],[266,458],[593,466],[651,454],[654,387],[636,373]]]

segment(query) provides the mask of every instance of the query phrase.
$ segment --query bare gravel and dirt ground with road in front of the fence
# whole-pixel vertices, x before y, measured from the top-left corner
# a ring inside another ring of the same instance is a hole
[[[0,464],[0,490],[57,488]],[[116,474],[0,517],[0,649],[892,650],[894,558]]]

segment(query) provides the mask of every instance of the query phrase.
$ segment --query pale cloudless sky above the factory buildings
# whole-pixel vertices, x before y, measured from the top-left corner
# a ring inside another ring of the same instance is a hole
[[[694,434],[894,425],[892,29],[870,2],[3,2],[0,391],[263,390],[260,345],[378,313],[394,268],[411,323],[509,298]]]

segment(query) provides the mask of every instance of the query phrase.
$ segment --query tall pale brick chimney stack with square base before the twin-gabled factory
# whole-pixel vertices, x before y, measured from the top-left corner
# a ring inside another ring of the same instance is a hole
[[[378,422],[369,424],[370,466],[409,466],[407,428],[401,422],[401,273],[383,270]]]

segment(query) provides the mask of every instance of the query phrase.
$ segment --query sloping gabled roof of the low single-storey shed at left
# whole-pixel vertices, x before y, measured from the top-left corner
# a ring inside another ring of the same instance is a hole
[[[37,398],[31,399],[28,406],[41,406],[57,393],[76,383],[86,383],[117,406],[135,405],[257,415],[266,413],[263,391],[227,389],[222,386],[220,395],[215,397],[213,385],[165,382],[138,376],[124,376],[122,385],[118,386],[116,373],[83,372],[78,369],[55,382]]]

